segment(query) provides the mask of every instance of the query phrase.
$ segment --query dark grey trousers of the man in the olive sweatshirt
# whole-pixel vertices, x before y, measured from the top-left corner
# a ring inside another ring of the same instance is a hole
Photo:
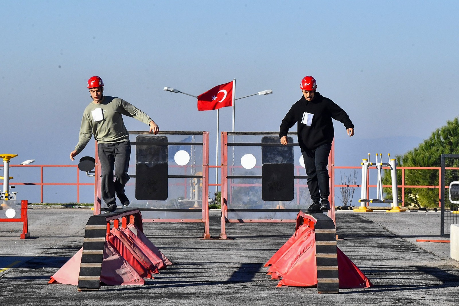
[[[102,199],[108,204],[115,204],[115,193],[123,194],[124,186],[129,181],[129,159],[131,143],[98,143],[97,152],[102,167],[101,191]],[[113,181],[115,170],[115,181]]]

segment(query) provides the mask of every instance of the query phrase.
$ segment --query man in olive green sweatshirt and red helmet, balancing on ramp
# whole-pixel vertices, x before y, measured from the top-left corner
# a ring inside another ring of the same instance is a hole
[[[113,212],[117,207],[115,193],[123,206],[129,205],[124,186],[129,181],[131,145],[122,115],[150,125],[150,133],[153,132],[155,135],[158,134],[159,127],[146,113],[134,105],[120,98],[104,96],[104,83],[100,77],[91,77],[88,80],[88,89],[93,101],[84,109],[78,144],[70,153],[70,159],[74,160],[94,135],[102,167],[102,199],[107,204],[107,211]],[[113,181],[113,170],[115,181]]]

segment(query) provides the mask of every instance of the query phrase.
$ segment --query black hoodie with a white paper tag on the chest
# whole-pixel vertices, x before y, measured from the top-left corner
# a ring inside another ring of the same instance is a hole
[[[312,116],[312,120],[309,119]],[[304,96],[293,104],[289,112],[285,115],[280,125],[279,137],[287,136],[288,130],[298,123],[298,145],[304,151],[313,150],[325,143],[331,143],[335,132],[333,121],[341,121],[346,129],[354,128],[347,113],[329,98],[325,98],[319,92],[314,94],[312,101],[308,101]],[[302,123],[304,122],[304,123]]]

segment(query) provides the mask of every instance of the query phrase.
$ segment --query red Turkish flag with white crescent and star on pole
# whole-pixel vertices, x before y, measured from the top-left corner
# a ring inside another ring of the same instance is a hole
[[[215,86],[198,96],[198,110],[213,110],[233,106],[233,81]]]

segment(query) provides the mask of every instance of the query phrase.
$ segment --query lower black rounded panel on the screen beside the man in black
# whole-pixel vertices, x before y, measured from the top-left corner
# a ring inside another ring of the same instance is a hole
[[[263,201],[291,201],[294,194],[293,164],[263,164],[261,198]]]

